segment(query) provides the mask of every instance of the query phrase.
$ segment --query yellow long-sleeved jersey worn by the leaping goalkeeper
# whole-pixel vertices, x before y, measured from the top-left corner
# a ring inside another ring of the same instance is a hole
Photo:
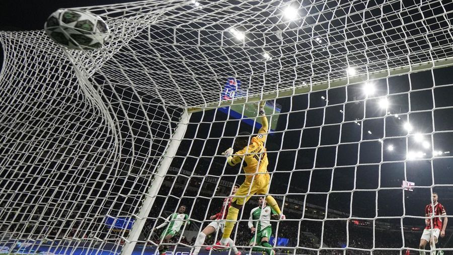
[[[266,141],[267,129],[261,128],[257,136],[252,137],[251,143],[244,149],[235,152],[230,165],[236,165],[243,162],[242,168],[246,174],[246,181],[252,182],[253,174],[267,173],[267,160],[266,148],[264,142]],[[244,161],[243,161],[244,159]],[[256,175],[255,180],[261,178],[263,175]]]

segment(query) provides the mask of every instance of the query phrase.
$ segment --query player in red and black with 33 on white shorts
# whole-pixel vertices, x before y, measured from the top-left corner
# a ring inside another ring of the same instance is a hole
[[[233,191],[232,191],[231,195],[235,195],[236,192],[238,191],[238,189],[239,189],[239,185],[235,185],[233,187]],[[192,255],[197,255],[198,252],[200,252],[200,248],[201,248],[200,246],[203,245],[204,240],[206,239],[207,235],[210,235],[219,229],[220,229],[220,231],[223,232],[223,228],[225,227],[226,215],[228,214],[228,208],[230,208],[232,200],[233,200],[233,197],[225,198],[223,200],[222,208],[220,209],[220,212],[209,217],[210,220],[214,220],[214,221],[209,223],[209,225],[207,225],[198,234],[197,239],[195,240],[194,250],[193,250]],[[216,245],[219,245],[219,243],[217,243]],[[208,247],[208,248],[210,248],[210,247]],[[206,248],[206,249],[208,249],[208,248]],[[236,247],[233,247],[233,251],[236,255],[241,255],[241,252],[238,251],[238,249]]]

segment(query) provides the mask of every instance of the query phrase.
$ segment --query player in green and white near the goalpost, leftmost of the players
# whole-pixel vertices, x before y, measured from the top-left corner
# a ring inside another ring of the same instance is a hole
[[[157,229],[165,227],[167,224],[167,228],[162,232],[160,237],[160,243],[168,243],[173,236],[175,236],[181,229],[181,226],[184,224],[190,224],[189,215],[185,214],[186,206],[182,205],[178,209],[178,213],[172,213],[170,216],[167,217],[164,223],[157,226],[153,229],[156,231]],[[164,254],[168,249],[167,245],[159,245],[159,254]]]

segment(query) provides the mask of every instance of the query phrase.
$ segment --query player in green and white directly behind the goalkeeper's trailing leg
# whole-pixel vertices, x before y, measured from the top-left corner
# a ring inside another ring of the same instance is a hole
[[[270,219],[278,220],[280,215],[266,205],[266,200],[260,197],[258,200],[258,207],[250,211],[249,228],[254,234],[250,240],[250,246],[259,245],[252,248],[253,251],[266,251],[267,254],[272,255],[272,245],[269,244],[269,238],[272,235],[272,225]],[[261,246],[261,247],[260,247]]]

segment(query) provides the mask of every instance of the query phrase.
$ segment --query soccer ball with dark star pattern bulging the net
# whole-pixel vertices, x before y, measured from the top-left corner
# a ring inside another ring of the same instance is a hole
[[[47,19],[44,30],[57,44],[68,49],[101,48],[109,28],[101,17],[88,12],[60,9]]]

